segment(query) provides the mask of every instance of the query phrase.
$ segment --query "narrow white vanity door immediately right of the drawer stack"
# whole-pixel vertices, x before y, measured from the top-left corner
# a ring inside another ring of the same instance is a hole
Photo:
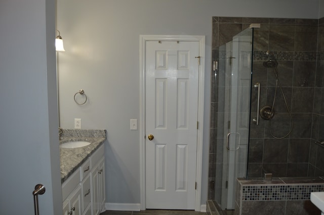
[[[93,215],[100,213],[99,202],[99,164],[97,164],[91,172],[91,184],[92,184],[92,211]]]

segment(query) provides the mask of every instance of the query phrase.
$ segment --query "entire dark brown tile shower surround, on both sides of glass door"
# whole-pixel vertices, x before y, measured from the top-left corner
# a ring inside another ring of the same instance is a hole
[[[265,52],[270,50],[278,60],[278,76],[294,119],[288,138],[275,139],[269,132],[269,121],[251,123],[249,146],[249,177],[262,177],[262,171],[273,177],[324,175],[324,147],[315,141],[324,140],[324,20],[213,17],[213,61],[217,47],[249,27],[254,29],[253,80],[261,83],[260,106],[272,105],[275,76],[263,67]],[[223,90],[221,76],[211,73],[211,142],[209,167],[209,199],[217,200],[221,189],[222,140],[224,122],[219,110],[218,92]],[[256,117],[257,91],[252,89],[251,118]],[[284,98],[278,89],[271,130],[275,136],[288,133],[292,123]],[[252,122],[252,121],[251,121]],[[215,177],[217,175],[217,177]]]

